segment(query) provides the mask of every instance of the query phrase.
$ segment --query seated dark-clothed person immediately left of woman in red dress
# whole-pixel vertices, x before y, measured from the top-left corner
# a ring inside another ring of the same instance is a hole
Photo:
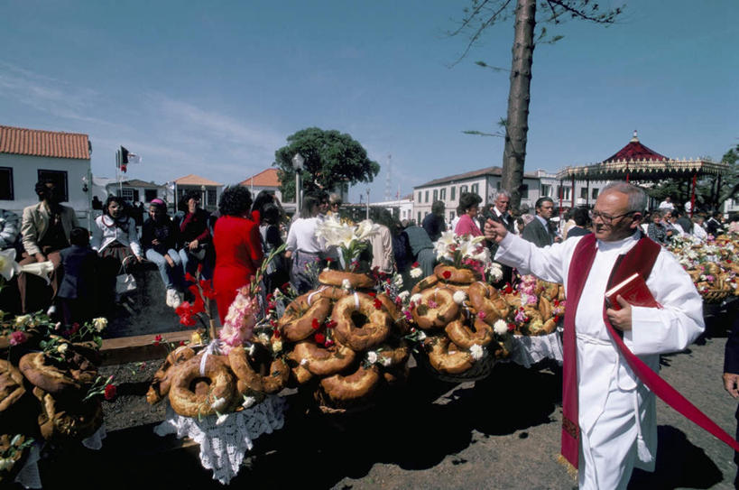
[[[185,216],[182,217],[179,227],[180,250],[177,254],[180,256],[182,269],[185,273],[196,275],[200,264],[205,262],[208,248],[212,246],[210,229],[208,228],[209,213],[200,208],[200,193],[195,190],[189,190],[185,194],[185,203],[188,208]],[[208,270],[203,267],[203,278],[209,278]],[[185,289],[189,287],[185,283]]]

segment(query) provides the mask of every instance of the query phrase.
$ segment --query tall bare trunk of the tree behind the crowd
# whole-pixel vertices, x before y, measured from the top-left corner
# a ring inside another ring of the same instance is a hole
[[[517,0],[501,184],[504,190],[511,193],[511,208],[513,209],[521,205],[523,165],[526,160],[526,134],[529,132],[531,63],[533,62],[535,25],[536,0]]]

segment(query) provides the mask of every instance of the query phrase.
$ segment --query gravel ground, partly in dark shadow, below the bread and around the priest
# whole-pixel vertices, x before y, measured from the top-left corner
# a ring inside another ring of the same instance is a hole
[[[712,323],[688,351],[664,356],[661,373],[734,434],[736,402],[721,383],[725,328]],[[44,488],[99,488],[103,481],[110,489],[222,487],[199,467],[197,446],[162,451],[174,438],[153,436],[145,425],[163,418],[163,407],[143,401],[142,382],[156,367],[106,368],[115,373],[120,396],[106,404],[105,447],[58,452],[42,461]],[[344,419],[307,411],[298,393],[288,393],[285,427],[256,440],[230,486],[573,488],[576,481],[556,460],[558,371],[499,364],[483,381],[454,385],[414,368],[389,402]],[[660,401],[657,410],[657,471],[635,472],[630,488],[733,488],[733,451]],[[132,426],[140,430],[118,430]]]

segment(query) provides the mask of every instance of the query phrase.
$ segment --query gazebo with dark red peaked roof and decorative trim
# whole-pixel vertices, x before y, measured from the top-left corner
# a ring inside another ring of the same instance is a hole
[[[711,162],[703,159],[673,160],[643,145],[633,132],[633,138],[624,148],[610,158],[595,165],[567,167],[559,171],[557,178],[572,180],[575,188],[576,180],[663,180],[670,178],[691,178],[690,191],[691,214],[695,208],[696,181],[700,175],[721,175],[728,171],[725,163]],[[560,187],[561,188],[561,187]],[[561,199],[560,199],[561,200]],[[573,193],[572,206],[575,207]]]

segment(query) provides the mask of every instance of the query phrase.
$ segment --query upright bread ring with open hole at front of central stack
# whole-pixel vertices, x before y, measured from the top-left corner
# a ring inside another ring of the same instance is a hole
[[[357,325],[357,314],[365,320]],[[390,335],[393,319],[381,305],[374,306],[374,298],[364,292],[355,292],[338,300],[331,314],[337,325],[334,333],[337,340],[354,351],[366,350],[383,342]]]

